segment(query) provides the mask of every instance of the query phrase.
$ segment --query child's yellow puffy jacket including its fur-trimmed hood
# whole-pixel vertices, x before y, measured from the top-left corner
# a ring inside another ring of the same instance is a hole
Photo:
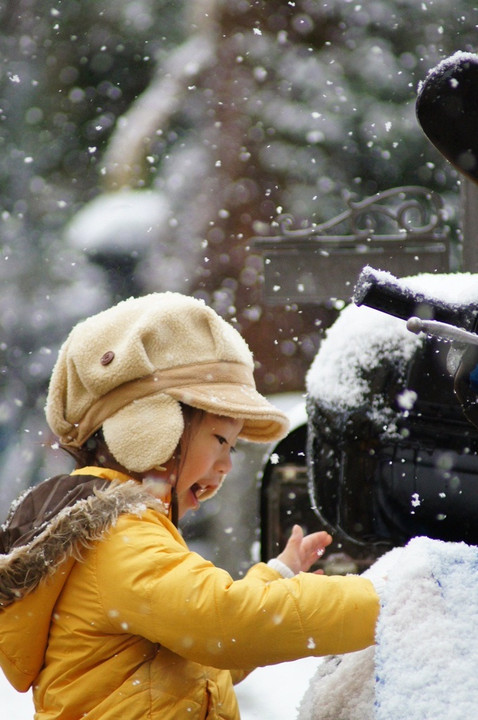
[[[47,513],[1,555],[0,603],[0,665],[33,685],[36,720],[237,720],[235,681],[372,644],[379,608],[360,577],[284,579],[259,563],[234,581],[132,481]]]

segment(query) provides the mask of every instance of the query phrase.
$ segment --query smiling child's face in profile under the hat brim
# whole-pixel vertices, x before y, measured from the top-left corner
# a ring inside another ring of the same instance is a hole
[[[210,495],[231,469],[231,453],[243,421],[205,413],[185,448],[176,492],[179,517],[197,510],[202,495]]]

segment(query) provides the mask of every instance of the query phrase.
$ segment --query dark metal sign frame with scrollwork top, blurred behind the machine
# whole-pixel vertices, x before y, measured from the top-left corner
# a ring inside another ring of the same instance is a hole
[[[270,235],[251,238],[264,257],[269,304],[348,301],[365,265],[398,276],[450,270],[449,228],[438,193],[412,185],[344,202],[346,210],[326,222],[297,228],[283,215]]]

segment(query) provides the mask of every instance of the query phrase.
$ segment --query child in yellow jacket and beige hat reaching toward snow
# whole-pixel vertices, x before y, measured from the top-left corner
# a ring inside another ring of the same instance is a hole
[[[176,524],[215,493],[239,437],[282,437],[242,337],[203,302],[131,298],[79,323],[46,415],[77,469],[40,483],[0,533],[0,664],[37,720],[239,718],[256,666],[374,642],[370,580],[306,573],[331,542],[295,527],[233,581]]]

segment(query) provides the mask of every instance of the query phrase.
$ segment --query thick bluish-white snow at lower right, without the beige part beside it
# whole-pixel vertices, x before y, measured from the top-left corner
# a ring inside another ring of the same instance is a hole
[[[412,540],[390,573],[377,643],[377,720],[474,717],[478,548]]]

